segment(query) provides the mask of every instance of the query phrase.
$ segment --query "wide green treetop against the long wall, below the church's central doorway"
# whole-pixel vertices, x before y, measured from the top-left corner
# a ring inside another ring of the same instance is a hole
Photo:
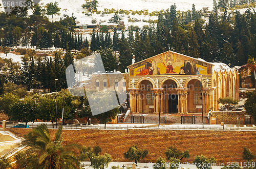
[[[170,146],[168,149],[166,149],[165,155],[168,160],[172,158],[175,158],[178,160],[182,160],[184,157],[189,158],[188,150],[185,150],[184,152],[179,152],[178,149],[174,146]]]

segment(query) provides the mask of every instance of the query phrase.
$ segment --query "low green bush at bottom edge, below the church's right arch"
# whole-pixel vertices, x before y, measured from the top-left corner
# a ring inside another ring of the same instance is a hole
[[[204,155],[196,156],[193,163],[197,163],[198,169],[211,169],[211,164],[216,163],[214,157],[210,157],[209,159]],[[200,164],[200,165],[199,165]]]

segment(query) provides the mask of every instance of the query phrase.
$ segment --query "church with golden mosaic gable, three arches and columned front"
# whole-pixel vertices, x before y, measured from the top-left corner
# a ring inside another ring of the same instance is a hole
[[[208,113],[239,98],[239,73],[225,64],[167,51],[127,68],[133,113]]]

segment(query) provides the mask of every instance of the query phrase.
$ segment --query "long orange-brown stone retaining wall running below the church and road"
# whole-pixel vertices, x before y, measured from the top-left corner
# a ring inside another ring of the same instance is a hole
[[[12,129],[26,134],[31,129]],[[56,129],[49,129],[51,135]],[[256,153],[256,131],[222,131],[222,130],[63,130],[63,140],[87,146],[100,145],[102,153],[109,153],[113,161],[129,161],[123,153],[130,146],[137,145],[147,149],[148,155],[141,162],[154,162],[160,156],[165,157],[167,147],[175,146],[178,150],[188,150],[193,162],[196,155],[215,157],[219,162],[243,162],[243,147]]]

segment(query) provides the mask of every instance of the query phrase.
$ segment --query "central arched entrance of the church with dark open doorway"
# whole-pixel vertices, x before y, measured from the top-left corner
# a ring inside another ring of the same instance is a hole
[[[161,97],[161,112],[178,113],[178,92],[177,82],[173,79],[166,79],[162,83],[163,95]]]

